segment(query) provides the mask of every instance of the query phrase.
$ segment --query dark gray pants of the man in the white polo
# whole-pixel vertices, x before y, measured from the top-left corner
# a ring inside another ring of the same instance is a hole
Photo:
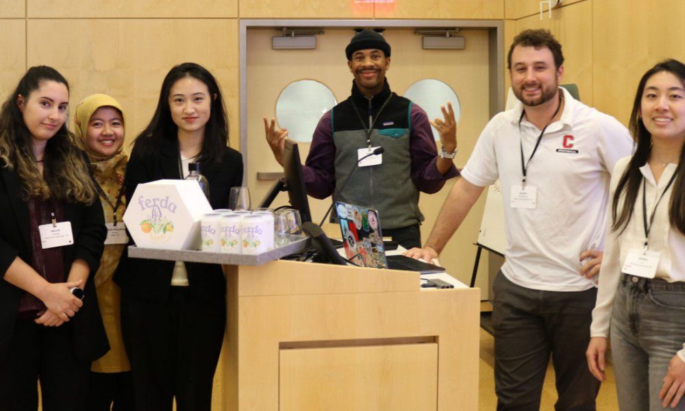
[[[599,381],[585,350],[597,288],[577,292],[532,290],[501,271],[493,283],[497,410],[539,410],[551,353],[559,411],[593,411]]]

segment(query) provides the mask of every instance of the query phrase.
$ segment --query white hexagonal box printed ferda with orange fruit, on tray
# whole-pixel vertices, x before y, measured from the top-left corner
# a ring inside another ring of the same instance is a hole
[[[138,247],[197,250],[208,212],[212,206],[197,182],[161,179],[138,184],[123,220]]]

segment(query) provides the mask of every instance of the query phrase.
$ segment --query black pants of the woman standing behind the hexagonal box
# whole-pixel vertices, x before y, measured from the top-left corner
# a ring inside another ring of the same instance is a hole
[[[226,325],[225,298],[171,287],[148,301],[121,292],[121,329],[131,363],[136,410],[206,410]]]

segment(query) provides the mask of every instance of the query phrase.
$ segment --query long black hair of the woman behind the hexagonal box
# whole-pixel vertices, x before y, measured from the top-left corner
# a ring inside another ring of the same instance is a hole
[[[171,119],[169,93],[171,86],[184,77],[193,77],[206,84],[210,93],[209,98],[212,100],[210,119],[205,127],[202,150],[198,160],[204,163],[219,162],[228,142],[226,109],[216,79],[212,73],[196,63],[183,63],[173,66],[166,74],[164,82],[162,82],[160,99],[155,114],[153,114],[149,125],[136,137],[136,148],[140,150],[140,155],[147,156],[154,155],[162,144],[169,144],[169,142],[176,144],[178,126]]]

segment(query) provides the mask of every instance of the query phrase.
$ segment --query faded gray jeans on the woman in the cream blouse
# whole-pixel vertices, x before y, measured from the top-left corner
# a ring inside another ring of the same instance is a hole
[[[669,362],[685,342],[685,283],[623,275],[611,317],[611,352],[621,411],[662,408]],[[676,410],[685,410],[681,399]]]

